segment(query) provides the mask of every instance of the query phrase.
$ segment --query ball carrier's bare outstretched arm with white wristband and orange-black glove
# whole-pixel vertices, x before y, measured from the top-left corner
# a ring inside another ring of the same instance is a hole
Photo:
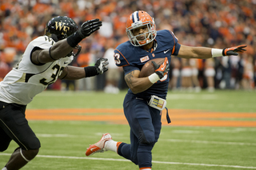
[[[181,48],[178,52],[178,57],[206,59],[210,57],[238,55],[238,53],[246,51],[246,46],[247,45],[238,45],[225,49],[212,49],[207,47],[193,47],[181,45]]]

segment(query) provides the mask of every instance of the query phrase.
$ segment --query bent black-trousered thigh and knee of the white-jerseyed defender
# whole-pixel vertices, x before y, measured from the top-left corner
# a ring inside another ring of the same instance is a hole
[[[26,150],[40,148],[40,141],[28,125],[25,105],[4,104],[1,109],[1,128],[21,148]]]

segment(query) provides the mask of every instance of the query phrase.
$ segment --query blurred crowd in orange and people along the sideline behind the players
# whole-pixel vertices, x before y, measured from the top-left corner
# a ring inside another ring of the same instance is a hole
[[[26,45],[44,34],[46,22],[58,15],[78,26],[93,18],[102,28],[80,43],[72,65],[110,60],[110,71],[80,81],[57,81],[49,89],[104,90],[127,88],[122,69],[114,65],[114,48],[128,41],[126,18],[145,10],[157,30],[172,30],[182,45],[218,49],[248,45],[238,56],[208,60],[172,57],[170,89],[254,89],[256,81],[256,0],[0,0],[0,81],[22,57]]]

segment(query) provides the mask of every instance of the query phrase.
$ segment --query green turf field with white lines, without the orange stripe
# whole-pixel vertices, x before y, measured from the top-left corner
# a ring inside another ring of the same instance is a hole
[[[125,93],[45,91],[38,94],[27,109],[121,109]],[[256,93],[170,92],[167,107],[256,114]],[[22,169],[138,169],[114,152],[98,153],[90,157],[84,153],[86,147],[98,141],[104,132],[110,132],[114,140],[129,143],[128,125],[92,121],[30,121],[30,126],[41,140],[42,148],[38,156]],[[0,153],[0,168],[6,164],[15,148],[17,144],[12,142],[10,148]],[[256,169],[256,128],[163,126],[160,139],[152,152],[152,169],[155,170]]]

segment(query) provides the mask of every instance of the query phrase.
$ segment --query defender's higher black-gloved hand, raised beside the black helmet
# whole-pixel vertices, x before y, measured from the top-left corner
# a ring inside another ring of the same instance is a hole
[[[102,22],[99,21],[99,19],[88,20],[87,22],[83,22],[77,33],[81,36],[81,38],[86,38],[96,30],[99,30],[100,26],[102,26]]]

